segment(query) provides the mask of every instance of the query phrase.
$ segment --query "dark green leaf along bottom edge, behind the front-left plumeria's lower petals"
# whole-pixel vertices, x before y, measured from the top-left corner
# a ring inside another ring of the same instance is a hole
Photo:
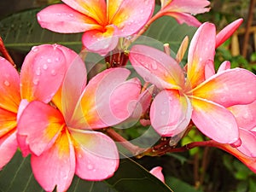
[[[44,191],[32,175],[30,158],[17,152],[0,172],[0,192]],[[102,182],[89,182],[73,178],[69,192],[170,192],[166,184],[150,174],[143,166],[125,158],[113,177]]]

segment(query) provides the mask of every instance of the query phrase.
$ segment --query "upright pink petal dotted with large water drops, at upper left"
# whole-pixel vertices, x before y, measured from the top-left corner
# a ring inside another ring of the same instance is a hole
[[[67,60],[59,45],[33,47],[20,71],[21,97],[28,102],[49,102],[60,88]]]

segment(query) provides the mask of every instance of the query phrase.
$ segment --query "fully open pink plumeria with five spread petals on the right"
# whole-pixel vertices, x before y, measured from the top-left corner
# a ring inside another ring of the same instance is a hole
[[[176,60],[158,49],[132,47],[132,66],[145,81],[161,89],[150,108],[151,124],[161,136],[181,133],[192,119],[202,133],[218,143],[238,140],[236,119],[227,108],[255,101],[256,77],[235,68],[206,79],[205,67],[213,62],[215,46],[215,26],[202,24],[189,46],[186,73]]]

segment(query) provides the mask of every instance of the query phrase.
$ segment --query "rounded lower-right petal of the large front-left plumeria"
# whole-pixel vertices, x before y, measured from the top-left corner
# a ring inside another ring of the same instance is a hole
[[[113,140],[96,131],[71,132],[76,143],[76,174],[86,180],[112,177],[119,166],[119,154]]]

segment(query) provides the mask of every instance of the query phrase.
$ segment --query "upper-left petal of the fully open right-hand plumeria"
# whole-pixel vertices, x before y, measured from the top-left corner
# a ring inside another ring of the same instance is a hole
[[[130,61],[143,79],[159,88],[180,89],[184,84],[183,70],[171,56],[145,45],[131,48]]]

